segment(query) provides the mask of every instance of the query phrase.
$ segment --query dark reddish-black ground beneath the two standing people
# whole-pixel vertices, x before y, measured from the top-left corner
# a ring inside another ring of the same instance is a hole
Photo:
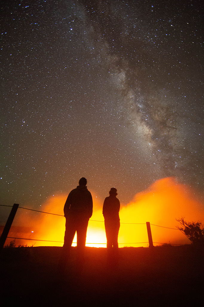
[[[106,249],[86,247],[83,268],[76,247],[65,276],[57,273],[61,247],[4,248],[0,305],[203,306],[203,251],[191,245],[119,249],[118,268],[107,268]]]

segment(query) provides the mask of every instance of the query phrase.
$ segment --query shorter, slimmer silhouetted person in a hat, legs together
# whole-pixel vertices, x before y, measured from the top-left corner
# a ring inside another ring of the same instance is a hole
[[[103,216],[107,239],[107,261],[108,264],[118,262],[118,232],[120,229],[120,201],[117,199],[117,189],[111,188],[110,196],[106,197],[103,203]]]

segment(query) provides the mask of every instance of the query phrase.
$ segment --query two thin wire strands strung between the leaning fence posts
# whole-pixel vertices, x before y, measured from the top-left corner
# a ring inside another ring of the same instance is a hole
[[[2,205],[0,204],[0,206],[3,207],[13,207],[13,206],[9,206],[9,205]],[[30,211],[34,211],[34,212],[40,212],[40,213],[46,213],[46,214],[51,214],[51,215],[55,215],[55,216],[62,216],[64,217],[64,215],[61,214],[56,214],[56,213],[50,213],[50,212],[45,212],[45,211],[39,211],[39,210],[34,210],[34,209],[30,209],[30,208],[24,208],[24,207],[18,207],[20,209],[25,209],[25,210],[30,210]],[[90,219],[90,221],[95,221],[95,222],[102,222],[104,223],[104,221],[100,221],[100,220],[92,220]],[[120,222],[121,224],[132,224],[132,225],[146,225],[146,223],[124,223],[124,222]],[[178,228],[172,228],[172,227],[165,227],[165,226],[161,226],[161,225],[155,225],[155,224],[151,224],[152,226],[156,226],[156,227],[162,227],[162,228],[167,228],[167,229],[173,229],[173,230],[179,230]],[[64,243],[64,241],[54,241],[54,240],[41,240],[41,239],[30,239],[30,238],[18,238],[18,237],[7,237],[9,239],[21,239],[21,240],[32,240],[32,241],[42,241],[42,242],[55,242],[55,243]],[[72,243],[76,243],[76,242],[72,242]],[[118,244],[145,244],[145,243],[149,243],[147,242],[131,242],[131,243],[118,243]],[[154,242],[156,244],[166,244],[166,243],[161,243],[161,242]],[[100,244],[100,245],[106,245],[107,243],[87,243],[86,244]],[[180,243],[171,243],[171,245],[183,245]]]

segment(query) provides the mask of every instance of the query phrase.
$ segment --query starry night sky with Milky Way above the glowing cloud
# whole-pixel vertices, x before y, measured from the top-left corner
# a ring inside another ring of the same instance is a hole
[[[176,177],[203,193],[200,0],[1,4],[0,204],[80,177],[126,204]]]

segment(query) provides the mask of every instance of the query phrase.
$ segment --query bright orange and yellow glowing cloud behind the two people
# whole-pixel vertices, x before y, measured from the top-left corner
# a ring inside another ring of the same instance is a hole
[[[87,246],[106,247],[106,233],[102,215],[103,200],[99,199],[95,192],[91,191],[91,194],[93,196],[94,210],[87,230]],[[39,210],[63,215],[66,197],[67,195],[52,196]],[[120,199],[120,191],[118,191],[118,198]],[[26,207],[29,208],[29,205]],[[178,225],[176,219],[182,216],[187,221],[199,220],[202,222],[204,221],[204,212],[201,208],[202,204],[196,200],[194,193],[186,185],[178,183],[172,177],[158,180],[148,190],[136,194],[129,204],[121,204],[121,227],[118,236],[119,247],[147,247],[148,243],[143,243],[148,242],[146,222],[150,222],[152,239],[153,242],[156,242],[154,245],[159,245],[158,243],[189,244],[190,241],[179,230],[163,227],[176,228],[176,225]],[[61,243],[57,243],[18,240],[16,241],[17,244],[33,244],[34,246],[63,245],[65,232],[65,218],[63,216],[18,209],[15,224],[33,227],[31,229],[33,232],[30,231],[24,234],[24,236],[22,234],[21,236],[16,235],[18,237],[61,241]],[[11,239],[7,240],[10,241]],[[76,235],[73,242],[76,242]],[[76,243],[72,244],[72,246],[75,245]]]

